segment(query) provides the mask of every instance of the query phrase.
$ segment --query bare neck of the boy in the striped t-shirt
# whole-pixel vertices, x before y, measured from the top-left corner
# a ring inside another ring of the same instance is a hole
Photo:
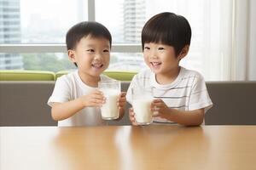
[[[155,74],[155,80],[156,80],[156,82],[163,84],[163,85],[170,84],[176,80],[180,69],[181,68],[179,66],[175,71]]]

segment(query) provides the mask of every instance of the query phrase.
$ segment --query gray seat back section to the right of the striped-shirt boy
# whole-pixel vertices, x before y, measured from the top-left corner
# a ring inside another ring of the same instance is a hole
[[[206,125],[256,125],[256,82],[207,82],[213,107]]]

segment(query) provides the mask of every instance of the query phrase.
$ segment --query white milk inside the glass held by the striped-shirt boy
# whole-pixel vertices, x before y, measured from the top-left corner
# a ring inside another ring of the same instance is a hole
[[[135,113],[135,119],[138,124],[150,124],[153,113],[150,111],[150,104],[153,98],[139,98],[132,100],[132,107]]]

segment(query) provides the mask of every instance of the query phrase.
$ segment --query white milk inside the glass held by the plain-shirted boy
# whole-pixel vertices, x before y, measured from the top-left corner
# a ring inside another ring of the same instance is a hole
[[[106,97],[106,103],[102,105],[102,119],[110,120],[119,117],[119,108],[117,105],[117,99],[119,97],[119,91],[113,89],[104,89],[104,96]]]

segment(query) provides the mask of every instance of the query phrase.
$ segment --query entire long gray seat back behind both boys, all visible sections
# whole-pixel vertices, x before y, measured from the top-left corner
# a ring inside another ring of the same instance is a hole
[[[122,82],[126,91],[130,82]],[[56,126],[47,100],[55,82],[0,81],[0,126]],[[256,125],[254,108],[256,82],[207,82],[213,107],[206,114],[206,125]],[[130,125],[127,103],[125,116],[109,125]]]

